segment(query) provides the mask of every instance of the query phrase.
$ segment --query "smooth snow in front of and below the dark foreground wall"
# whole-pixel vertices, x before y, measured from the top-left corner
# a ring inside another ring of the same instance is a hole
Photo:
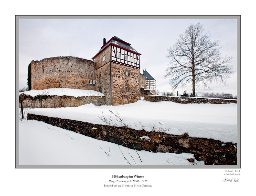
[[[20,165],[204,164],[197,161],[188,162],[188,158],[194,158],[193,154],[188,153],[151,153],[144,150],[137,152],[142,162],[135,150],[93,139],[45,122],[26,119],[19,121]],[[122,153],[129,163],[124,160]]]

